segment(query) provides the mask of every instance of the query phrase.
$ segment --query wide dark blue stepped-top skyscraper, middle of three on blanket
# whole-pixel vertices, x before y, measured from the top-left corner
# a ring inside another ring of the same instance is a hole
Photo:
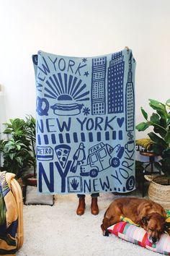
[[[112,54],[107,74],[108,114],[123,112],[123,75],[125,61],[122,51]]]

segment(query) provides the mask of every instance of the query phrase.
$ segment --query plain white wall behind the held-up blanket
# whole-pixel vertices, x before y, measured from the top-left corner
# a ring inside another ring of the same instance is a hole
[[[136,123],[143,121],[140,106],[150,110],[148,98],[170,98],[169,0],[0,0],[0,34],[6,119],[35,116],[31,56],[40,49],[96,56],[132,48]]]

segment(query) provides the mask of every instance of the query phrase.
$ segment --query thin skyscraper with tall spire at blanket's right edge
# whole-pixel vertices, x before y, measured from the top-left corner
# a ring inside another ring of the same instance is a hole
[[[133,131],[135,127],[135,95],[132,77],[132,61],[129,60],[128,82],[126,84],[125,106],[126,106],[126,130]]]

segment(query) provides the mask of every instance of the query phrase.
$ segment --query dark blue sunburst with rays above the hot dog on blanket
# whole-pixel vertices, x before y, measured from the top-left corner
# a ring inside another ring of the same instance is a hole
[[[46,81],[45,97],[60,101],[68,98],[71,101],[89,101],[89,90],[81,79],[64,73],[53,74]]]

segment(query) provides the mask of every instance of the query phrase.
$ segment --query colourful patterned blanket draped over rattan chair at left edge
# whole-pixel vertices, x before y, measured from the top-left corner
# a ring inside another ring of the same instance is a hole
[[[17,251],[17,203],[6,182],[6,172],[0,172],[0,255],[15,255]]]

